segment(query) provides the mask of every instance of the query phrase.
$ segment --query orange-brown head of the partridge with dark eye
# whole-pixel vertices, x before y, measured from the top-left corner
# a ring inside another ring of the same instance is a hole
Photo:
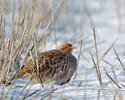
[[[59,49],[63,50],[65,53],[72,54],[73,46],[71,43],[65,43],[65,44],[62,44],[59,47]]]

